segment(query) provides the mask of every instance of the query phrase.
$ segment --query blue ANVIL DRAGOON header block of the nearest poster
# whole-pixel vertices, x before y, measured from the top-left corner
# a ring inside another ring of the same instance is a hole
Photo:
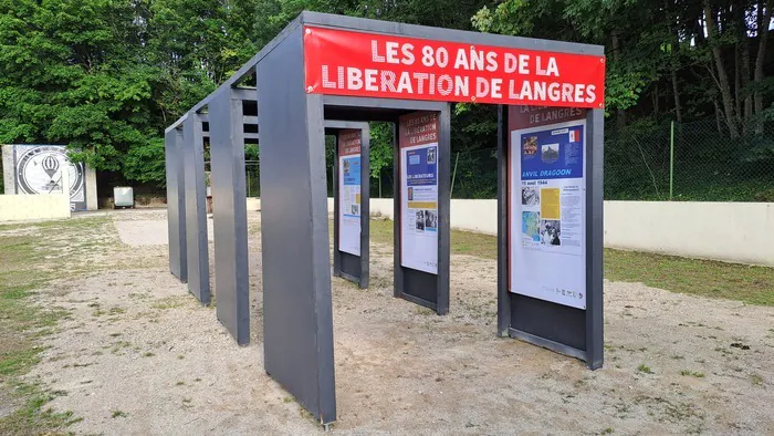
[[[583,177],[583,125],[521,134],[522,180]]]

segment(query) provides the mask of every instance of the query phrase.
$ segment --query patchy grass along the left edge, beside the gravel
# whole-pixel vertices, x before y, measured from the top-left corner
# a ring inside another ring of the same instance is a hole
[[[61,272],[71,272],[66,262],[85,250],[72,246],[71,239],[92,235],[107,222],[104,218],[0,225],[0,397],[18,405],[0,418],[0,434],[59,433],[79,421],[72,412],[44,408],[54,394],[22,381],[45,350],[39,340],[69,315],[40,307],[31,298]]]

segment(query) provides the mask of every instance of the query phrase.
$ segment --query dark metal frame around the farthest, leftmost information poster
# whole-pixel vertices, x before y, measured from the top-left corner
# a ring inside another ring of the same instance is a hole
[[[344,129],[360,131],[360,256],[338,250],[341,231],[338,133]],[[335,137],[333,152],[333,274],[357,283],[360,289],[366,289],[368,288],[370,262],[370,128],[368,123],[325,121],[325,134]]]

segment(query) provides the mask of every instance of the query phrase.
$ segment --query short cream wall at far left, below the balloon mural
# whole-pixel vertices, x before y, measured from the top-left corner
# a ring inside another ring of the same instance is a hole
[[[0,221],[70,218],[70,195],[0,195]]]

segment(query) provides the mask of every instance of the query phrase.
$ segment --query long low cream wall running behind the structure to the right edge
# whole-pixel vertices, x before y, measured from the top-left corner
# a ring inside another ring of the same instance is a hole
[[[370,212],[393,219],[393,199]],[[456,229],[496,235],[496,200],[451,200]],[[604,214],[605,247],[774,267],[771,203],[605,201]]]

